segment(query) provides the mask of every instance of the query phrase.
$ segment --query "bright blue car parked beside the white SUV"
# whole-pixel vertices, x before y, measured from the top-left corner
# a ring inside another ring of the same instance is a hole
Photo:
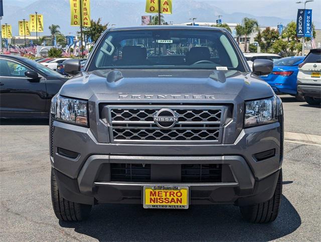
[[[269,83],[275,93],[286,93],[297,96],[296,76],[298,65],[302,63],[304,56],[291,56],[274,61],[274,67],[271,74],[261,76]],[[297,97],[297,99],[301,99]]]

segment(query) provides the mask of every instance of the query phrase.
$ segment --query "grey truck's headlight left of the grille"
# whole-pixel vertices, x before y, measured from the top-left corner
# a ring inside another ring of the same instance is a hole
[[[80,126],[88,126],[88,101],[57,96],[56,120]]]

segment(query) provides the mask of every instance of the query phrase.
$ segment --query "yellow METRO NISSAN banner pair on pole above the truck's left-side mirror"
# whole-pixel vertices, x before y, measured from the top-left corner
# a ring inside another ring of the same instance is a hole
[[[90,0],[70,0],[71,26],[80,26],[80,15],[82,17],[82,26],[90,27]]]

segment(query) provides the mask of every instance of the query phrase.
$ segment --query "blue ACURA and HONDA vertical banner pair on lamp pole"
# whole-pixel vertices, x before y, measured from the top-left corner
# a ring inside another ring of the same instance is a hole
[[[312,10],[298,9],[296,18],[296,36],[311,37],[312,35]]]

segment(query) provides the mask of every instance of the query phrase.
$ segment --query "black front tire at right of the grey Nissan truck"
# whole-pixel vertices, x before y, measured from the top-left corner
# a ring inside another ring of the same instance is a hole
[[[282,195],[282,170],[280,170],[273,197],[265,202],[249,206],[241,206],[241,213],[245,220],[253,223],[273,222],[279,212]]]

